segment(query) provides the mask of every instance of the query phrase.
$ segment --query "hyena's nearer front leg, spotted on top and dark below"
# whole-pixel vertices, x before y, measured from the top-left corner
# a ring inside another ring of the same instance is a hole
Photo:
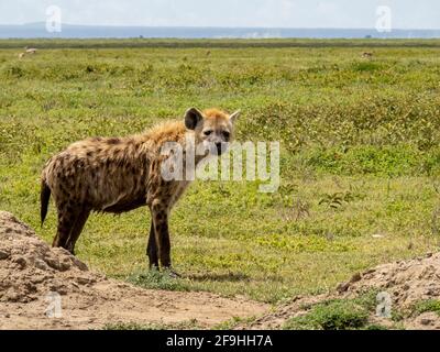
[[[161,200],[152,204],[152,219],[158,258],[163,267],[170,267],[170,242],[168,232],[168,205]]]

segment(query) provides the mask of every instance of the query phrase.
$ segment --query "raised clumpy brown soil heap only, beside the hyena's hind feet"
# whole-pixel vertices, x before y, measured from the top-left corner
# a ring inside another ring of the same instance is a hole
[[[80,292],[102,279],[63,249],[51,249],[12,215],[0,212],[0,301],[29,302],[44,294]]]

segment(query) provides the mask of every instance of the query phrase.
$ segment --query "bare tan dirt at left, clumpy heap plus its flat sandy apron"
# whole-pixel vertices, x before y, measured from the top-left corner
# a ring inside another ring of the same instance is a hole
[[[266,305],[208,293],[142,289],[90,272],[0,211],[0,329],[90,329],[111,323],[211,327]]]

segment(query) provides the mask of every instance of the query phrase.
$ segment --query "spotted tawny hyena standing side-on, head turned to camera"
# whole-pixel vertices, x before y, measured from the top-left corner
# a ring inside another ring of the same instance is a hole
[[[69,145],[53,156],[42,173],[41,220],[47,213],[53,195],[57,215],[57,232],[53,246],[62,246],[74,254],[75,243],[91,211],[122,213],[147,206],[151,211],[150,238],[146,255],[150,267],[158,264],[170,267],[168,217],[180,198],[188,179],[163,177],[162,165],[167,142],[183,146],[213,145],[201,156],[223,153],[231,142],[239,111],[227,114],[217,109],[200,111],[190,108],[184,121],[170,121],[127,138],[92,138]],[[185,161],[183,163],[185,165]]]

